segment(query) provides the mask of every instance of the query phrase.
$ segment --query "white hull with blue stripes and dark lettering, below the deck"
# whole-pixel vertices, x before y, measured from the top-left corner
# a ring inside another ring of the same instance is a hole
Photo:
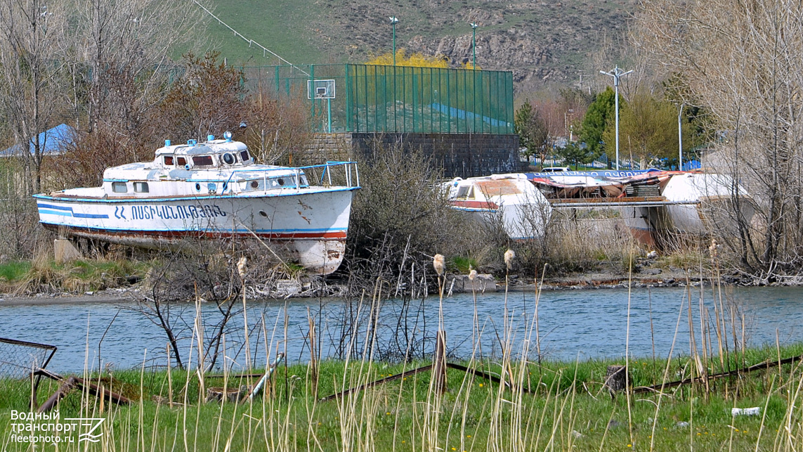
[[[36,195],[39,222],[67,237],[128,246],[178,246],[188,238],[258,238],[279,257],[321,275],[340,266],[355,188],[169,198]]]

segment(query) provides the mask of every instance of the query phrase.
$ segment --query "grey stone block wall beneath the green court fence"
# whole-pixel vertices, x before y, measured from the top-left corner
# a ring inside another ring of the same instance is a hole
[[[519,136],[482,133],[324,133],[317,135],[311,149],[299,155],[294,163],[354,160],[373,153],[374,145],[421,149],[433,157],[434,164],[448,178],[518,173],[527,169],[527,162],[519,158]]]

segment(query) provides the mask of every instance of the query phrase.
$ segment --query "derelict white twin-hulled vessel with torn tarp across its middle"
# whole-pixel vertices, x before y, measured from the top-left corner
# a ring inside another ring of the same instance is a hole
[[[505,186],[516,189],[488,189],[490,181],[507,181]],[[714,227],[727,228],[734,222],[734,211],[746,222],[752,221],[754,213],[752,198],[732,177],[658,169],[455,179],[450,182],[450,202],[454,209],[482,213],[485,218],[502,213],[505,230],[514,239],[542,236],[553,210],[616,209],[631,234],[650,246],[673,234],[699,235]],[[528,234],[521,234],[522,230]]]

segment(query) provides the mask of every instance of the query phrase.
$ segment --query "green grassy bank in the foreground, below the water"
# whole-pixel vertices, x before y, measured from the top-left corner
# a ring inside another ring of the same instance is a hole
[[[711,360],[705,371],[801,352],[803,344],[731,353],[730,362]],[[319,399],[429,363],[280,367],[267,395],[243,405],[202,400],[210,386],[248,383],[233,375],[113,372],[93,379],[132,398],[132,405],[75,391],[61,401],[59,413],[62,419],[106,418],[102,441],[89,450],[795,450],[803,440],[803,413],[795,408],[803,389],[797,362],[665,389],[658,397],[660,390],[638,387],[691,377],[699,370],[695,360],[634,359],[628,364],[635,392],[613,398],[603,386],[606,368],[624,360],[503,363],[463,364],[499,376],[513,389],[449,369],[442,395],[431,373],[422,372],[332,401]],[[39,402],[57,386],[43,381]],[[30,394],[28,381],[0,381],[3,450],[26,450],[9,441],[10,410],[26,411]],[[760,407],[760,414],[732,416],[733,407]],[[75,443],[59,450],[78,449]]]

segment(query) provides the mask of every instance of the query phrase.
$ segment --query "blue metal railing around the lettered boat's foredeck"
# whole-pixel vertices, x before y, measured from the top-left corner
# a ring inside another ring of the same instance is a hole
[[[228,180],[223,185],[223,191],[232,189],[232,181],[238,173],[248,174],[248,179],[254,179],[256,173],[262,173],[262,187],[267,189],[268,180],[273,177],[271,173],[276,173],[282,169],[235,169],[230,174]],[[293,185],[286,188],[302,189],[308,186],[322,187],[360,187],[360,172],[355,161],[327,161],[320,165],[308,165],[298,167],[287,167],[285,170],[293,173]],[[306,177],[307,184],[302,183],[302,176]],[[236,181],[236,180],[234,180]]]

